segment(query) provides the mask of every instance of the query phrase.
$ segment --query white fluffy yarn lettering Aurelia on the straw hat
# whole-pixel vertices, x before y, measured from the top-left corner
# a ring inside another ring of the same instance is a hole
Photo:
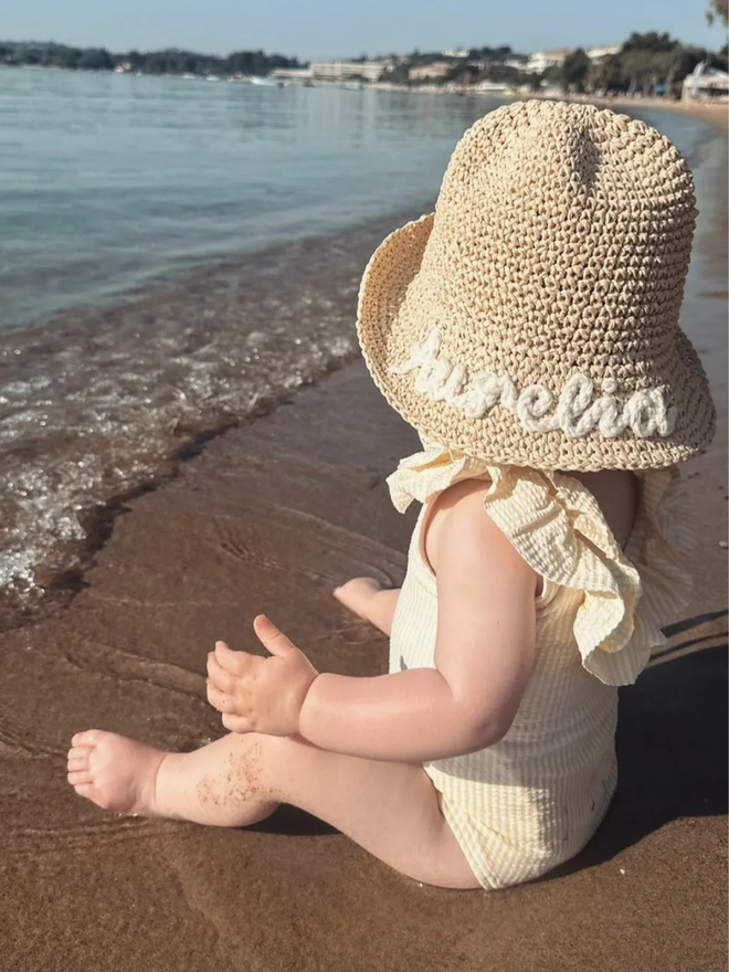
[[[439,358],[441,332],[434,327],[422,345],[411,345],[410,358],[393,364],[390,371],[406,374],[418,371],[415,390],[433,402],[446,402],[468,419],[483,419],[495,405],[515,412],[528,432],[553,432],[581,439],[598,430],[614,439],[631,430],[641,439],[670,435],[676,424],[676,409],[664,399],[665,387],[635,391],[621,403],[614,395],[616,382],[606,378],[595,398],[595,387],[585,374],[573,374],[559,393],[554,411],[553,393],[543,384],[530,384],[521,392],[508,376],[482,371],[466,381],[463,364]],[[551,414],[548,414],[550,413]]]

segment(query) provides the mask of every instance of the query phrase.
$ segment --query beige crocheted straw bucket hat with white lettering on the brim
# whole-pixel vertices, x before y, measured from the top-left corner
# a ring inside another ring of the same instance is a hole
[[[358,332],[427,440],[494,463],[640,469],[707,448],[715,409],[678,328],[691,175],[653,128],[517,103],[456,146],[435,213],[364,272]]]

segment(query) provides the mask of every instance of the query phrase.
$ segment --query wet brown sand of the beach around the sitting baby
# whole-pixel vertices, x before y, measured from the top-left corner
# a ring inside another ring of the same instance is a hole
[[[293,809],[210,830],[113,816],[65,782],[83,728],[176,750],[221,735],[205,653],[218,637],[254,648],[261,610],[320,668],[385,669],[385,640],[330,590],[402,579],[412,518],[384,476],[418,443],[355,362],[118,510],[68,606],[2,635],[3,969],[726,969],[726,152],[712,165],[687,297],[720,410],[688,469],[696,590],[668,649],[622,691],[620,789],[587,850],[532,885],[446,891]]]

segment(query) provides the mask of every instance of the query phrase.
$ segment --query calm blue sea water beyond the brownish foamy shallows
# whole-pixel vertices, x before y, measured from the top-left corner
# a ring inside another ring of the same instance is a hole
[[[422,202],[496,104],[0,68],[0,327]]]

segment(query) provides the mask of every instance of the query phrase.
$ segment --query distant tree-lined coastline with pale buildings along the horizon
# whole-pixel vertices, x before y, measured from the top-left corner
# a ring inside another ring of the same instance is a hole
[[[726,12],[719,11],[719,15],[726,22]],[[699,94],[727,97],[728,56],[727,44],[717,53],[657,31],[633,32],[622,43],[609,46],[531,54],[501,45],[310,63],[261,50],[235,51],[225,56],[177,47],[112,53],[106,47],[0,41],[0,66],[455,94],[562,92],[590,97],[641,95],[666,99]]]

